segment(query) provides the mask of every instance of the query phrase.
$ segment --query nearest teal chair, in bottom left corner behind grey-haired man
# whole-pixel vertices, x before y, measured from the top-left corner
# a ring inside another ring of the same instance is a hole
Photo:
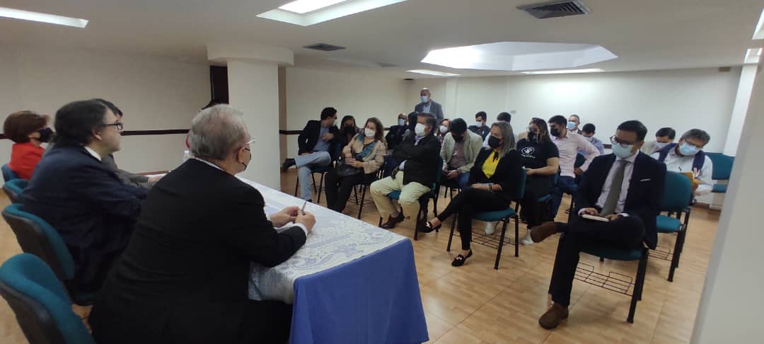
[[[2,264],[0,295],[31,344],[95,344],[56,274],[37,256],[22,253]]]

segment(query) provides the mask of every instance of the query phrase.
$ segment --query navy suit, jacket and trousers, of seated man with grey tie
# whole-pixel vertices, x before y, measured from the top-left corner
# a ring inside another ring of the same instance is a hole
[[[570,304],[571,288],[578,254],[586,245],[607,245],[615,248],[638,249],[643,243],[649,248],[656,248],[658,233],[656,216],[665,184],[665,164],[646,154],[638,153],[634,161],[629,190],[623,213],[628,216],[610,222],[597,222],[582,219],[578,211],[584,208],[596,208],[597,199],[604,188],[607,174],[616,160],[608,154],[594,158],[581,179],[575,199],[575,211],[571,213],[567,225],[559,225],[564,234],[557,245],[555,268],[552,271],[552,283],[549,294],[555,303]]]

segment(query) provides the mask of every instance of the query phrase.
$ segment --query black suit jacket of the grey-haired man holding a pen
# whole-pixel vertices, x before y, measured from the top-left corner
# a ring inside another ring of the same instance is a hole
[[[250,263],[280,264],[306,240],[297,226],[277,233],[264,206],[256,189],[196,159],[163,177],[92,310],[95,340],[235,342]]]

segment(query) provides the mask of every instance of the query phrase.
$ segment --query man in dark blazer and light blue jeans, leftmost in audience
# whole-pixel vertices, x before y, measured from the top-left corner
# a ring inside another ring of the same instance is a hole
[[[281,165],[281,170],[297,167],[299,179],[299,198],[312,202],[310,193],[310,177],[312,168],[327,167],[332,164],[333,148],[339,137],[339,129],[334,125],[337,121],[337,109],[325,108],[321,111],[321,121],[311,120],[299,133],[297,144],[299,146],[298,157],[286,159]]]

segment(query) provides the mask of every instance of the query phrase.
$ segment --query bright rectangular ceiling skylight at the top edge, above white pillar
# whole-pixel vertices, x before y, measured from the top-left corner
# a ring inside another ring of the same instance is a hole
[[[257,15],[274,21],[310,26],[406,0],[297,0]]]

